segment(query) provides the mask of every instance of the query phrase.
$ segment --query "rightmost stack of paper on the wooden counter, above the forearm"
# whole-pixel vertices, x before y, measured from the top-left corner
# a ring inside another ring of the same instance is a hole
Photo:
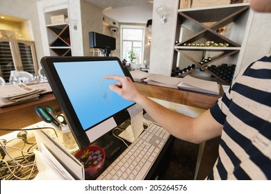
[[[178,88],[199,91],[206,94],[220,94],[220,87],[217,82],[193,78],[191,76],[184,77],[181,82],[179,82]]]

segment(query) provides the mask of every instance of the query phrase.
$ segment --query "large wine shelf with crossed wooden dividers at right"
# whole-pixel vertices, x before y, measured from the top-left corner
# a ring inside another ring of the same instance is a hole
[[[196,67],[181,73],[180,76],[202,69],[211,73],[220,82],[230,84],[229,80],[220,78],[208,67],[215,63],[217,66],[222,63],[236,64],[238,62],[238,53],[242,49],[248,15],[249,3],[178,10],[176,39],[179,42],[174,46],[174,56],[183,62],[179,62],[179,67],[185,68],[189,63],[195,64]],[[224,31],[219,33],[219,30]],[[206,46],[210,42],[215,46]],[[211,58],[211,61],[201,64],[200,61],[203,58]]]

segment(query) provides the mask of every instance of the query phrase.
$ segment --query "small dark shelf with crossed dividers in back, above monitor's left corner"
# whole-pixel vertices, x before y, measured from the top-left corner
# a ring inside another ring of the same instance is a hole
[[[68,24],[47,25],[49,48],[59,56],[71,56],[71,42]]]

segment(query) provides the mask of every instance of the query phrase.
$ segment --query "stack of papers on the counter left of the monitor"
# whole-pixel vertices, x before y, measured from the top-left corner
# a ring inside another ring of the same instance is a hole
[[[23,83],[18,83],[17,85],[1,85],[0,107],[8,107],[38,100],[40,94],[44,91],[45,89],[33,89]]]

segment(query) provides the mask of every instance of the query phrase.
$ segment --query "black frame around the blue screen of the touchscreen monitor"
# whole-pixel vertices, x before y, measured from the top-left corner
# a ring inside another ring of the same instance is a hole
[[[65,91],[65,88],[58,76],[56,68],[54,67],[54,62],[83,62],[83,61],[108,61],[108,60],[116,60],[118,64],[120,65],[120,68],[122,69],[122,72],[124,73],[124,76],[127,76],[131,78],[131,80],[133,80],[131,73],[129,73],[129,70],[126,69],[126,67],[123,67],[122,62],[120,62],[120,59],[117,57],[89,57],[89,56],[88,57],[85,57],[85,56],[52,57],[52,56],[47,56],[47,57],[43,57],[40,60],[42,68],[44,69],[45,76],[47,76],[49,85],[51,86],[51,89],[54,92],[56,100],[58,101],[58,104],[60,105],[60,109],[62,110],[67,120],[67,125],[69,125],[69,128],[71,129],[72,134],[74,135],[74,139],[76,140],[76,143],[79,145],[80,149],[86,148],[88,145],[90,145],[90,143],[94,141],[90,141],[87,132],[83,130],[83,127],[79,121],[79,118],[77,117],[76,112],[74,111],[74,108],[72,107],[72,103],[70,102],[67,96],[67,92]],[[108,72],[108,75],[109,74],[110,72]],[[67,75],[67,76],[72,76],[72,75]],[[133,103],[132,105],[134,104],[135,103]],[[125,109],[122,109],[120,112],[117,112],[113,116],[110,116],[109,118],[113,118],[115,123],[117,125],[120,125],[121,123],[129,119],[130,116],[129,116],[129,112],[125,108]],[[106,118],[104,121],[106,121],[107,119],[108,118]],[[103,123],[104,121],[101,121],[100,123]],[[97,123],[97,125],[99,125],[100,123]],[[97,125],[90,127],[90,129]]]

